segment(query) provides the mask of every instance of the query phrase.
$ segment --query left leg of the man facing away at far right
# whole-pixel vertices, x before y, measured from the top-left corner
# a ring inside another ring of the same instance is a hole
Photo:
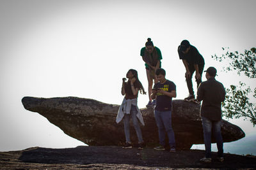
[[[211,158],[211,131],[212,121],[202,117],[202,126],[204,130],[205,158]]]

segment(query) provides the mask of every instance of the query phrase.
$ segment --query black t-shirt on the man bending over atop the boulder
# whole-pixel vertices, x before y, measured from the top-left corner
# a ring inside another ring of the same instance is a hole
[[[180,46],[179,46],[180,47]],[[198,50],[195,48],[195,46],[190,45],[190,49],[188,53],[182,53],[179,51],[178,47],[178,53],[180,60],[186,60],[189,65],[191,64],[204,64],[204,58],[203,56],[198,52]]]

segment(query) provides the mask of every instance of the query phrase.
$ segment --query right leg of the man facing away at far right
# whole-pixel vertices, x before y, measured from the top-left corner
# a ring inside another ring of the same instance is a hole
[[[221,120],[212,124],[214,137],[218,148],[218,157],[223,157],[223,139],[221,136]]]

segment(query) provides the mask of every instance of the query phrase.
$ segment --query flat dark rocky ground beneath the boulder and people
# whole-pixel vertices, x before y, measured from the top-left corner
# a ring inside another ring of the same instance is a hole
[[[225,153],[223,163],[212,155],[201,163],[203,150],[175,153],[152,148],[123,149],[120,146],[78,146],[76,148],[28,148],[0,152],[0,169],[256,169],[256,157]]]

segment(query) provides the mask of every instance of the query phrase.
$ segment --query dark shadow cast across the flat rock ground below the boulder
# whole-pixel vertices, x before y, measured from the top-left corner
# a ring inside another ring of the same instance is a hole
[[[180,150],[175,153],[156,151],[152,148],[123,149],[118,146],[77,146],[76,148],[29,148],[22,152],[19,160],[38,164],[127,164],[143,167],[173,168],[255,168],[256,158],[225,153],[223,163],[216,160],[212,153],[212,162],[201,163],[204,150]]]

